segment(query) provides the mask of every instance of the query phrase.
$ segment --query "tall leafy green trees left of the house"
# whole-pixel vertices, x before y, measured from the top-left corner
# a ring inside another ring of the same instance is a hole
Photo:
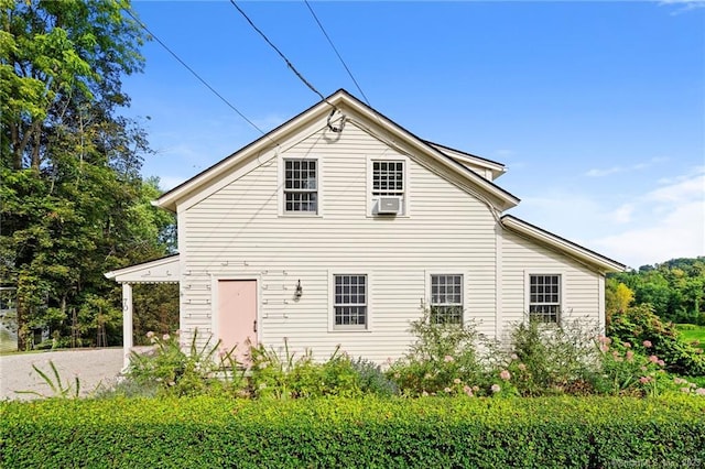
[[[173,218],[150,205],[159,181],[140,176],[144,131],[118,113],[144,36],[128,0],[0,7],[0,277],[18,288],[20,346],[39,327],[115,342],[104,272],[173,249]]]

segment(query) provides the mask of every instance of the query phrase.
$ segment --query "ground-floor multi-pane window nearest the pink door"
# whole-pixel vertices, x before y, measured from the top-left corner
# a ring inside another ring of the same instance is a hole
[[[335,327],[367,328],[367,275],[335,275]]]

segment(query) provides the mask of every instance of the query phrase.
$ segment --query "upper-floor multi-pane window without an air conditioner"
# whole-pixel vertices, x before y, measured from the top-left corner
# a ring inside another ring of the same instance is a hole
[[[284,212],[318,212],[315,160],[284,160]]]

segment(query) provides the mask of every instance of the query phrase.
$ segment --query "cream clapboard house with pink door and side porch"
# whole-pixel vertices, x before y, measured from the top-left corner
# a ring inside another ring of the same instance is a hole
[[[155,205],[177,215],[177,255],[106,274],[177,282],[181,328],[377,362],[409,323],[475,320],[505,337],[535,317],[605,324],[605,274],[625,265],[505,212],[500,163],[420,139],[338,90]]]

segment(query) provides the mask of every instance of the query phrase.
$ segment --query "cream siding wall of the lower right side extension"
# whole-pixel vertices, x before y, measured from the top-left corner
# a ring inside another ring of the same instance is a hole
[[[562,320],[586,320],[604,327],[604,277],[571,258],[502,230],[502,334],[529,314],[529,275],[562,276]]]

